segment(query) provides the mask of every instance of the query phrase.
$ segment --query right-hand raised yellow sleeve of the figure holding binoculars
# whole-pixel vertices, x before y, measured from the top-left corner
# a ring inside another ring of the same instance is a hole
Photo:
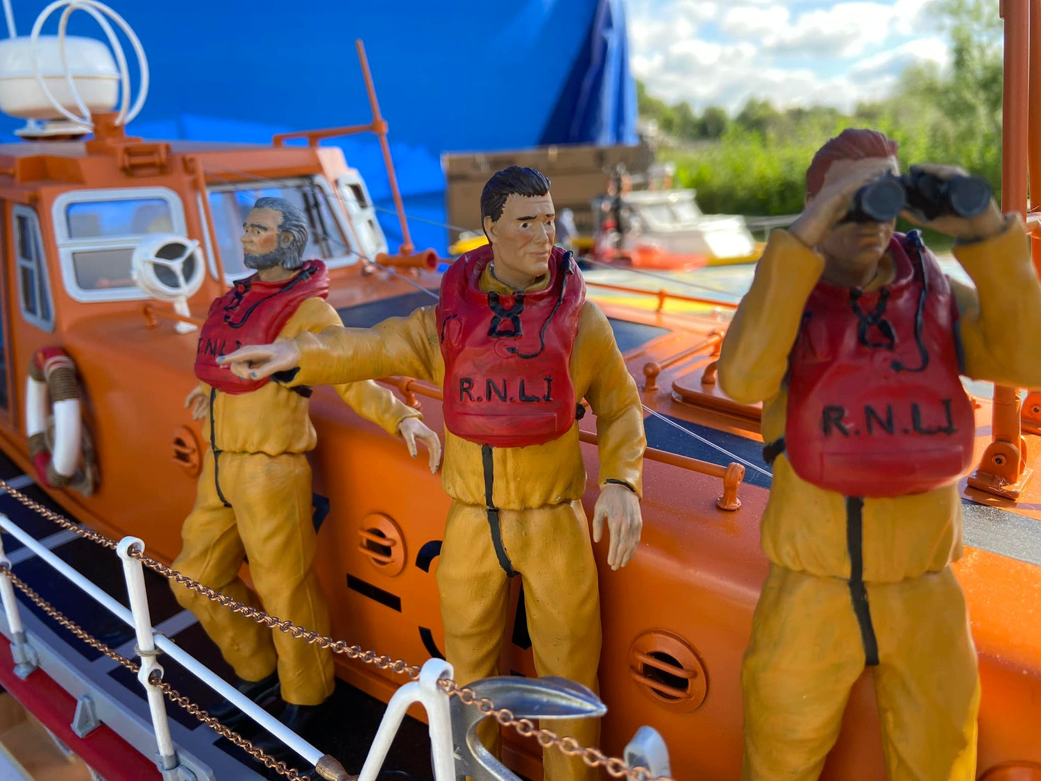
[[[951,280],[958,302],[965,374],[1019,387],[1041,387],[1041,283],[1018,215],[996,236],[955,245],[958,262],[975,289]]]

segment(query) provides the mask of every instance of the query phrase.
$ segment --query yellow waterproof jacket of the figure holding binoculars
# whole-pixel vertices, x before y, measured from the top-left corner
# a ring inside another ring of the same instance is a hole
[[[1002,233],[956,245],[955,257],[975,289],[951,280],[958,302],[965,373],[1007,385],[1041,386],[1041,284],[1018,217]],[[884,258],[884,260],[887,260]],[[784,434],[788,354],[803,309],[824,259],[787,231],[775,230],[756,268],[719,355],[719,386],[732,399],[763,402],[764,442]],[[871,286],[892,278],[892,262]],[[869,286],[870,288],[870,286]],[[811,485],[782,454],[762,519],[762,547],[769,559],[813,575],[850,577],[844,498]],[[957,484],[892,499],[865,499],[865,581],[896,581],[938,572],[962,555],[962,503]]]

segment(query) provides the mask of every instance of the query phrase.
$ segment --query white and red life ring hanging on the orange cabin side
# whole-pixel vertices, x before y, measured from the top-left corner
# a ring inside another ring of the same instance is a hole
[[[83,426],[76,364],[60,347],[42,348],[29,361],[25,428],[29,457],[45,485],[94,493],[94,442]]]

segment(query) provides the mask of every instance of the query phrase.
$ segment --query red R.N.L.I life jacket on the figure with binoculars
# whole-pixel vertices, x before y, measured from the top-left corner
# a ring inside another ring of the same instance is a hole
[[[930,490],[972,458],[950,284],[917,233],[889,254],[896,275],[878,291],[817,283],[789,357],[788,461],[848,497]]]

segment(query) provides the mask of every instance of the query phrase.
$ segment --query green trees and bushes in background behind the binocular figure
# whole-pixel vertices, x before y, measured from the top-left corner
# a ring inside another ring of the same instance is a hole
[[[706,212],[795,213],[803,208],[806,167],[820,145],[845,127],[872,127],[899,143],[905,170],[915,162],[958,165],[985,176],[1000,192],[1002,28],[997,3],[937,0],[931,10],[950,46],[948,67],[911,66],[888,99],[858,105],[852,115],[823,106],[778,111],[763,99],[750,100],[729,121],[720,109],[707,108],[697,135],[718,137],[719,143],[696,152],[668,153],[677,162],[678,182],[697,191]],[[658,102],[656,110],[672,111],[674,128],[683,124],[676,107]],[[718,123],[711,131],[710,119]],[[664,122],[660,125],[666,129]]]

